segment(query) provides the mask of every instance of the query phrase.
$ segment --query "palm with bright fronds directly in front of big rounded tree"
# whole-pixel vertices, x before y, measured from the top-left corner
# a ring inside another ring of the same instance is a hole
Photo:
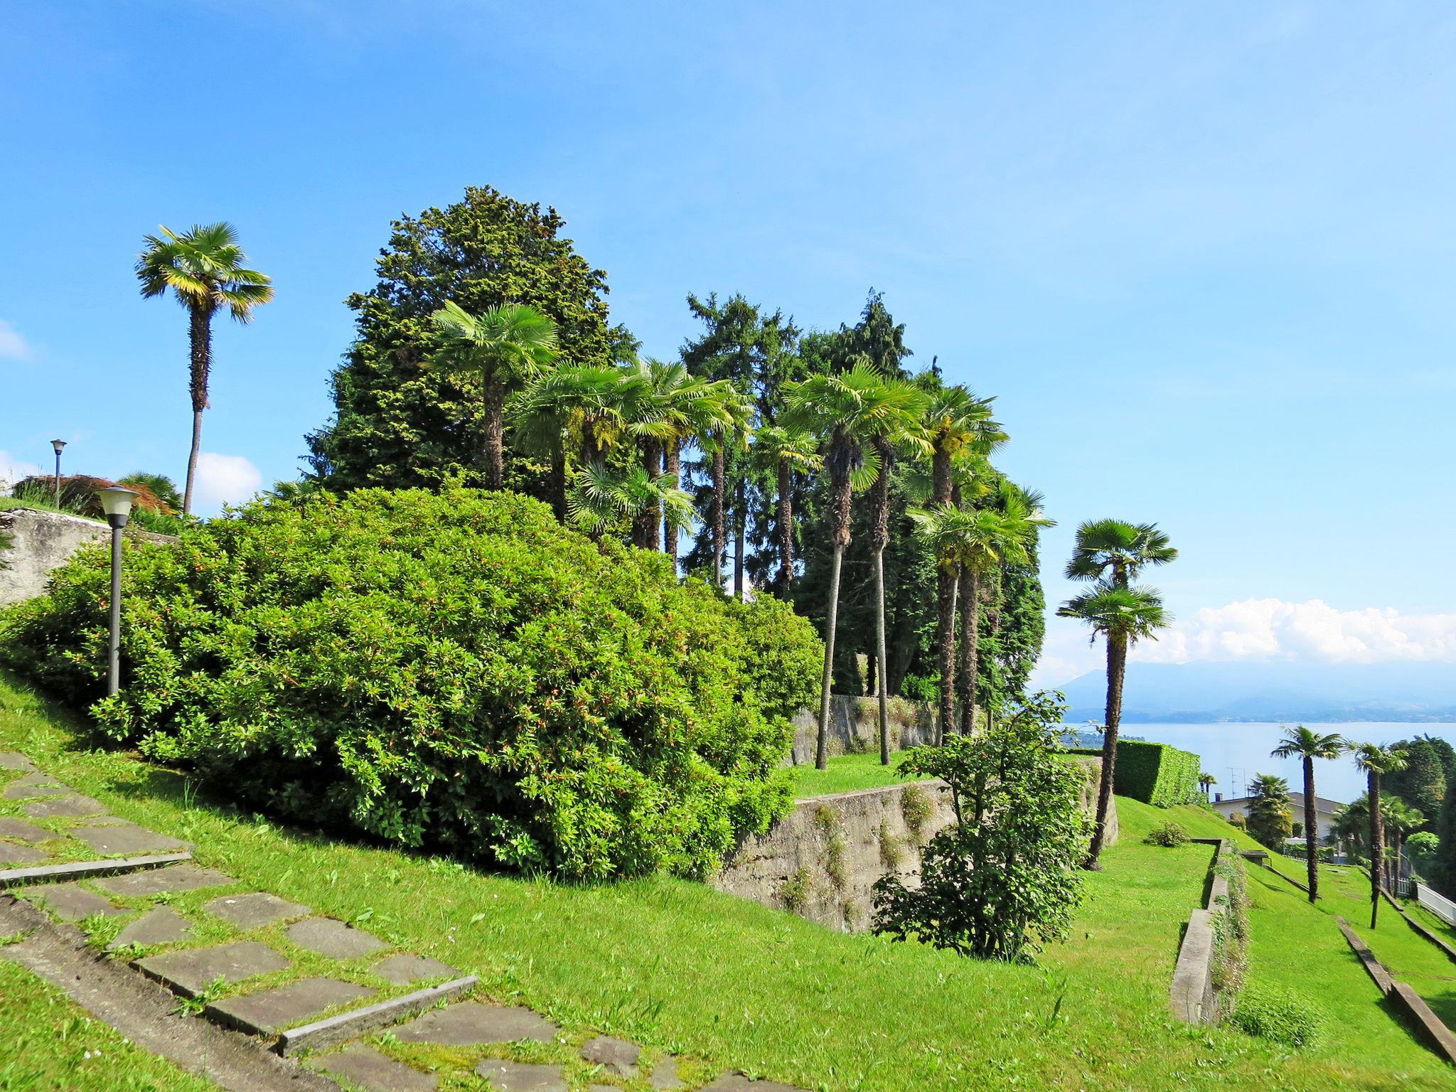
[[[556,360],[556,323],[524,303],[501,303],[470,314],[454,300],[431,316],[432,364],[480,377],[485,403],[485,488],[505,483],[505,397],[537,379]]]

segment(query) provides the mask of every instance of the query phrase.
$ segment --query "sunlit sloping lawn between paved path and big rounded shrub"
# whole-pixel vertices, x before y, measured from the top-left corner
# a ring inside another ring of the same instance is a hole
[[[1322,1002],[1348,996],[1360,1019],[1357,1035],[1341,1034],[1344,1051],[1291,1054],[1174,1021],[1168,986],[1182,925],[1203,897],[1210,847],[1163,849],[1142,837],[1169,818],[1194,836],[1232,834],[1201,808],[1120,801],[1121,842],[1108,849],[1105,871],[1089,875],[1070,942],[1053,946],[1042,967],[1015,967],[833,933],[690,882],[565,887],[281,828],[189,796],[178,775],[86,750],[64,715],[0,684],[4,747],[98,795],[116,815],[195,842],[202,865],[479,973],[485,994],[531,1005],[572,1042],[596,1031],[622,1035],[696,1057],[703,1076],[741,1067],[804,1088],[863,1092],[1393,1092],[1452,1082],[1450,1069],[1379,1008],[1353,961],[1307,961],[1307,974],[1296,976],[1293,962],[1261,958],[1261,945],[1296,948],[1305,933],[1344,943],[1328,916],[1297,903],[1257,910],[1251,976],[1289,980]],[[1255,894],[1258,872],[1251,869]],[[456,1063],[447,1077],[469,1088]]]

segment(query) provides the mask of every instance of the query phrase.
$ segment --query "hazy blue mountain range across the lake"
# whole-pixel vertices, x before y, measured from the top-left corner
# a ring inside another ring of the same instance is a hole
[[[1067,696],[1069,724],[1102,721],[1105,671],[1054,689]],[[1456,664],[1133,662],[1123,721],[1456,721]]]

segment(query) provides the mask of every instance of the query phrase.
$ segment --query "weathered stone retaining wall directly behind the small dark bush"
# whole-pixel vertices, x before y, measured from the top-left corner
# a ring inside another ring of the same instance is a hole
[[[1096,807],[1098,759],[1072,759],[1086,769],[1082,807]],[[945,782],[840,792],[798,802],[767,834],[748,839],[713,877],[719,891],[791,910],[844,932],[869,927],[869,893],[898,871],[917,882],[920,849],[955,820]],[[1108,844],[1117,840],[1117,811]]]

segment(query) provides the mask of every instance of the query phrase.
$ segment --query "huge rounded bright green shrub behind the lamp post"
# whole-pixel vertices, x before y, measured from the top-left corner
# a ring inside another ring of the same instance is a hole
[[[702,875],[788,807],[823,651],[778,600],[678,584],[550,510],[454,489],[253,502],[0,616],[0,658],[277,814],[518,869]]]

